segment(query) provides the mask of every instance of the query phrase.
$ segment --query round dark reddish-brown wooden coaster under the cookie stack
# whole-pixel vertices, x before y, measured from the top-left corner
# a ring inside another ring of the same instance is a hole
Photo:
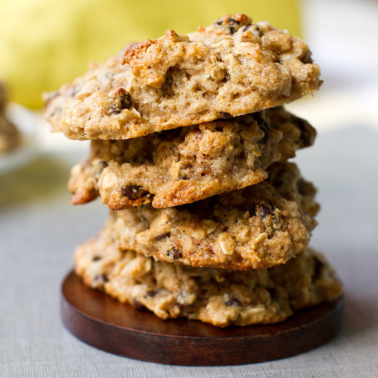
[[[298,311],[285,322],[219,329],[194,320],[162,320],[85,286],[71,272],[62,286],[62,318],[83,342],[160,364],[251,364],[298,355],[342,328],[344,298]]]

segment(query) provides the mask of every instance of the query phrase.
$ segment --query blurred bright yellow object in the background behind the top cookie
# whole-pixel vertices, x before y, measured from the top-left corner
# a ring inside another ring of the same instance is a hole
[[[0,0],[0,77],[11,100],[38,108],[43,91],[83,74],[89,61],[167,29],[194,31],[227,13],[300,34],[298,0]]]

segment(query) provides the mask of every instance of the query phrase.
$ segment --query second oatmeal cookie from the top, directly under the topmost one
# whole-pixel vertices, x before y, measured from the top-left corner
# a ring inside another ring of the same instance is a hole
[[[71,170],[71,203],[99,194],[112,210],[192,203],[263,181],[268,166],[314,138],[311,125],[278,107],[133,140],[94,140],[89,160]]]

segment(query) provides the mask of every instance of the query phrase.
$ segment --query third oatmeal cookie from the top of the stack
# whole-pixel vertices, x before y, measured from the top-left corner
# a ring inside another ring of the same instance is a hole
[[[285,263],[309,243],[318,204],[295,164],[242,190],[156,209],[111,212],[107,229],[122,249],[195,267],[260,269]]]

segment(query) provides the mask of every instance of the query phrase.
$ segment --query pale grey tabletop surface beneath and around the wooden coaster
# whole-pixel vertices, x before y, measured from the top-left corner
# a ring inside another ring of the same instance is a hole
[[[69,205],[66,181],[77,151],[41,155],[1,176],[0,376],[378,377],[377,146],[377,130],[351,124],[320,133],[296,158],[319,188],[322,211],[311,245],[344,282],[344,330],[309,353],[245,366],[139,362],[73,337],[60,321],[60,283],[74,247],[100,229],[107,209],[100,201]]]

